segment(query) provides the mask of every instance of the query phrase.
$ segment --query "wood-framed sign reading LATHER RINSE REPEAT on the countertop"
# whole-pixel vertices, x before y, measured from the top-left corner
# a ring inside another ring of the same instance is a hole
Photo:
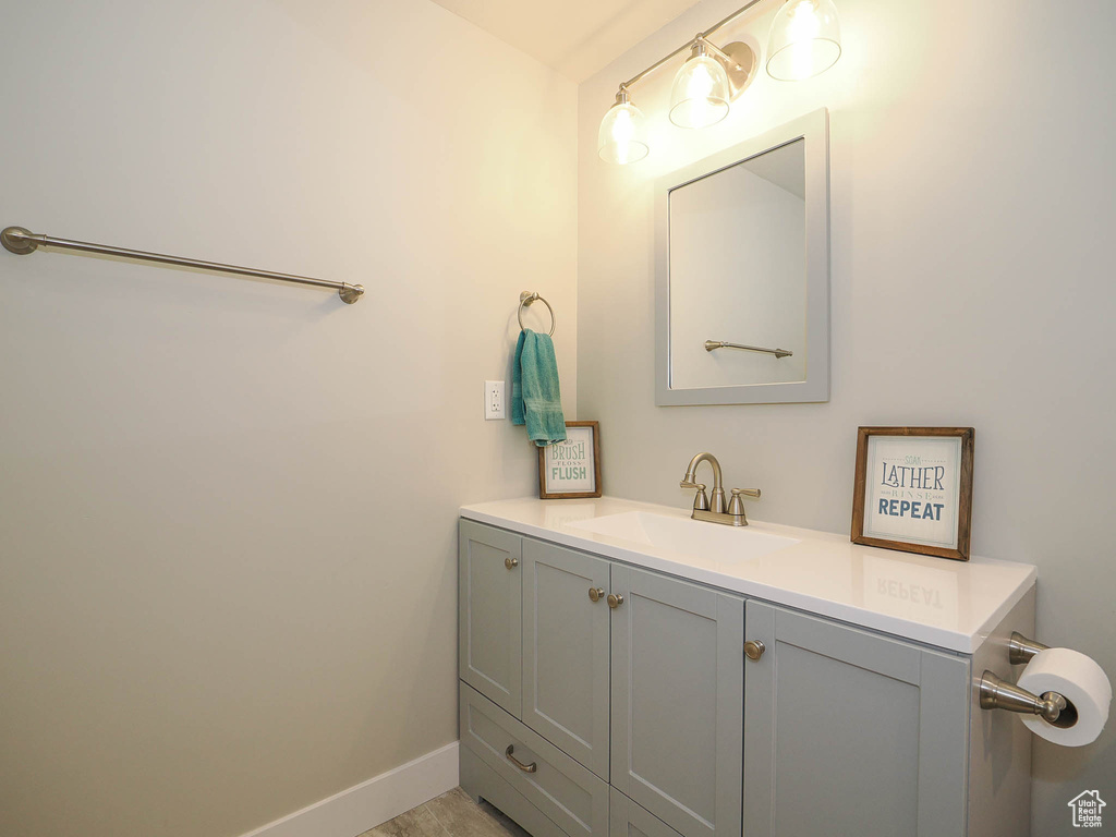
[[[860,427],[853,542],[969,560],[972,427]]]

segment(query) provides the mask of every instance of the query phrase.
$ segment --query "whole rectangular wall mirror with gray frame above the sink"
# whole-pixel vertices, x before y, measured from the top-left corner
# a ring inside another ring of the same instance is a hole
[[[826,110],[663,177],[655,403],[829,401]]]

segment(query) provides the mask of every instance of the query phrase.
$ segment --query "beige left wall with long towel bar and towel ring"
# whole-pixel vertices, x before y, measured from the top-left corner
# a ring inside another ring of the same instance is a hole
[[[238,835],[453,741],[525,288],[575,408],[576,87],[424,0],[0,11],[0,225],[367,288],[0,252],[0,834]]]

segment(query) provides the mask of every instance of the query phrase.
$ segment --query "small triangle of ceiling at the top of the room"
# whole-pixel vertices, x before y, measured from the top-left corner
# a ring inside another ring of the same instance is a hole
[[[575,81],[699,0],[434,0]]]

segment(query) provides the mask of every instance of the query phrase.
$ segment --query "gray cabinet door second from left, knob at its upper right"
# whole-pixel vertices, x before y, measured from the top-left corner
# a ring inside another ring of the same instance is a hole
[[[523,723],[605,781],[607,593],[608,561],[523,541]]]

